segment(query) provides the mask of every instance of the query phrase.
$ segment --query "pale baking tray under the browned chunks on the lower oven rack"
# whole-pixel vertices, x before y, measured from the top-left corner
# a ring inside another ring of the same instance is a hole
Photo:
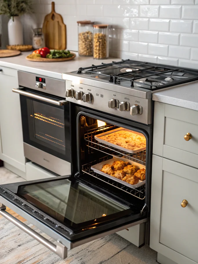
[[[137,162],[134,162],[134,161],[132,161],[132,160],[128,160],[128,159],[125,159],[125,158],[119,158],[119,157],[113,157],[112,159],[110,159],[110,160],[106,160],[106,161],[103,161],[103,162],[100,162],[100,163],[98,163],[98,164],[96,164],[96,165],[93,165],[92,167],[91,167],[91,169],[93,170],[93,171],[95,171],[96,173],[99,173],[99,174],[101,174],[101,175],[103,175],[103,176],[105,176],[105,177],[107,177],[107,178],[110,178],[110,179],[112,179],[112,180],[115,180],[116,182],[119,182],[119,183],[121,183],[121,184],[123,184],[123,185],[126,185],[127,187],[130,187],[130,188],[132,188],[132,189],[136,189],[136,188],[138,188],[138,187],[140,187],[140,186],[142,186],[142,185],[144,185],[145,184],[145,182],[146,182],[146,180],[139,180],[139,182],[137,183],[137,184],[135,184],[135,185],[131,185],[130,183],[127,183],[127,182],[125,182],[125,181],[123,181],[123,180],[120,180],[120,179],[117,179],[117,178],[115,178],[115,177],[113,177],[113,176],[110,176],[110,175],[108,175],[108,174],[106,174],[106,173],[104,173],[104,172],[102,172],[101,171],[101,169],[102,169],[102,167],[103,167],[103,165],[104,164],[112,164],[114,161],[116,161],[116,160],[123,160],[123,161],[125,161],[125,162],[129,162],[131,165],[135,165],[135,166],[137,166],[138,167],[138,169],[146,169],[146,166],[144,166],[144,165],[142,165],[142,164],[139,164],[139,163],[137,163]]]

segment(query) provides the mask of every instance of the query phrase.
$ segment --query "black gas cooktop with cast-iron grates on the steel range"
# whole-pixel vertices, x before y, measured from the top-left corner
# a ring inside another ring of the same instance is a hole
[[[121,86],[159,90],[198,80],[198,70],[122,60],[108,64],[79,68],[83,77],[92,77]]]

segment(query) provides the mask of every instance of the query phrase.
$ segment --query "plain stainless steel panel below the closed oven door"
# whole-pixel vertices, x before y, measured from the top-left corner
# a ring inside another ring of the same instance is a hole
[[[24,155],[30,161],[57,173],[60,176],[71,174],[71,163],[62,160],[52,154],[49,154],[41,149],[37,149],[23,142]]]

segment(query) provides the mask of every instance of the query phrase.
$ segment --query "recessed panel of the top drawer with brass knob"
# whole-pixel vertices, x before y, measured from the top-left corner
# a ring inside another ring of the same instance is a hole
[[[192,135],[189,141],[184,139],[186,133]],[[166,117],[164,144],[198,155],[198,125]]]

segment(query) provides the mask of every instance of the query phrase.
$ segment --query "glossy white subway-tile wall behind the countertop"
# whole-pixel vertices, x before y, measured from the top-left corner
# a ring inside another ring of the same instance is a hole
[[[23,18],[26,41],[51,10],[50,0],[33,2],[37,23]],[[198,68],[198,0],[57,0],[55,10],[67,25],[70,50],[77,50],[76,22],[88,19],[112,25],[112,56]]]

